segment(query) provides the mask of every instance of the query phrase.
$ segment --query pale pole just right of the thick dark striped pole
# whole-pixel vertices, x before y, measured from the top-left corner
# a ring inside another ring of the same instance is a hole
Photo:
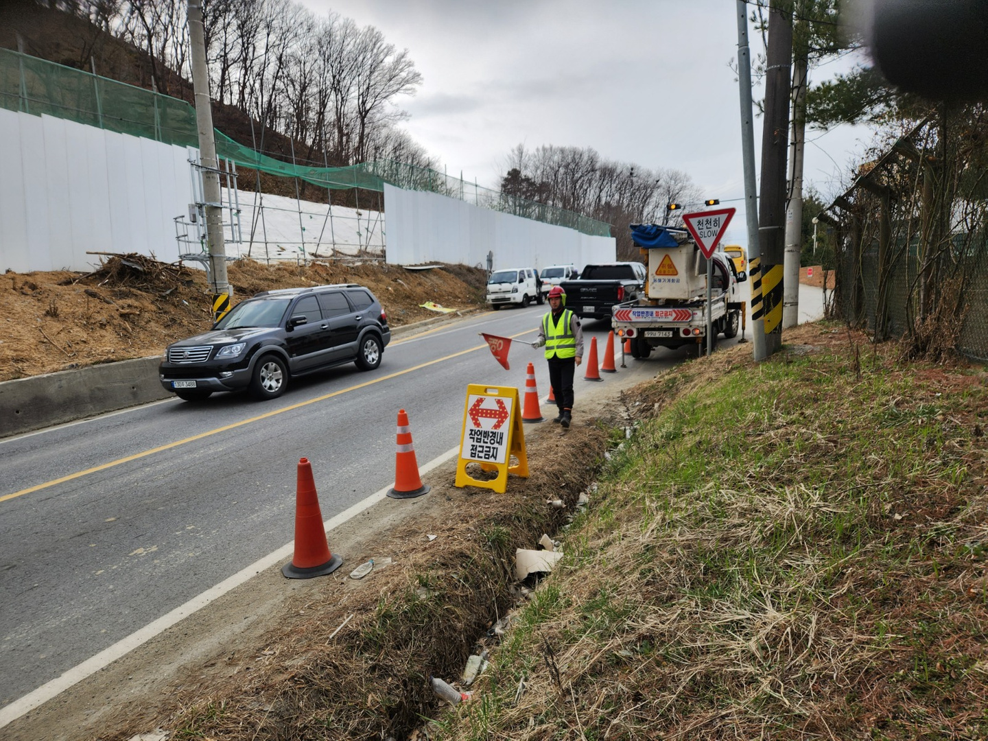
[[[805,21],[800,21],[805,26]],[[800,44],[805,48],[805,44]],[[792,140],[789,143],[789,207],[785,210],[785,286],[782,296],[782,329],[799,323],[799,253],[802,251],[802,169],[806,141],[807,59],[792,61]]]

